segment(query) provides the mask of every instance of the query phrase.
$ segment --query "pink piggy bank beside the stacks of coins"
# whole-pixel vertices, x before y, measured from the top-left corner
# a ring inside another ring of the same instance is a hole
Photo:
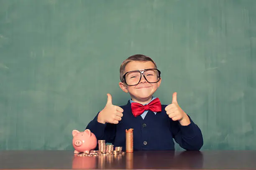
[[[97,138],[89,129],[84,132],[73,130],[72,135],[74,153],[90,153],[97,146]]]

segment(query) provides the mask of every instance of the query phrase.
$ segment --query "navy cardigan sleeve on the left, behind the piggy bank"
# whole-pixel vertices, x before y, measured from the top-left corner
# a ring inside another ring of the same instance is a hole
[[[95,134],[97,140],[105,140],[106,143],[113,143],[115,139],[115,124],[100,123],[97,121],[99,113],[87,125],[86,129],[90,129]]]

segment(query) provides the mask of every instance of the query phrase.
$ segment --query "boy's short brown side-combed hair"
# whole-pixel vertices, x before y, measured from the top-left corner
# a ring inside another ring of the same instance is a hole
[[[151,61],[154,63],[155,68],[156,67],[156,62],[154,62],[154,60],[152,60],[150,57],[143,55],[143,54],[136,54],[136,55],[132,55],[130,57],[128,57],[126,60],[123,61],[123,63],[120,66],[120,80],[121,82],[123,82],[123,75],[125,74],[125,66],[131,62],[131,61]]]

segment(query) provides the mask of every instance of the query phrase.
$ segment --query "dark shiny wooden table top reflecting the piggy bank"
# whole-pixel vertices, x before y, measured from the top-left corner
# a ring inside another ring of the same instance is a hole
[[[0,169],[256,169],[256,151],[135,151],[78,157],[68,151],[0,151]]]

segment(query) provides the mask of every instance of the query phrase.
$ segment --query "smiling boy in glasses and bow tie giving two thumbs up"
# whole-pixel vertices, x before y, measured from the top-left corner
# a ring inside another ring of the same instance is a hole
[[[131,95],[127,105],[112,104],[87,125],[97,140],[105,140],[125,150],[125,130],[133,128],[133,150],[174,150],[174,140],[185,150],[200,150],[200,128],[179,107],[177,92],[170,105],[161,105],[154,92],[161,84],[156,63],[145,55],[132,55],[120,66],[119,86]]]

